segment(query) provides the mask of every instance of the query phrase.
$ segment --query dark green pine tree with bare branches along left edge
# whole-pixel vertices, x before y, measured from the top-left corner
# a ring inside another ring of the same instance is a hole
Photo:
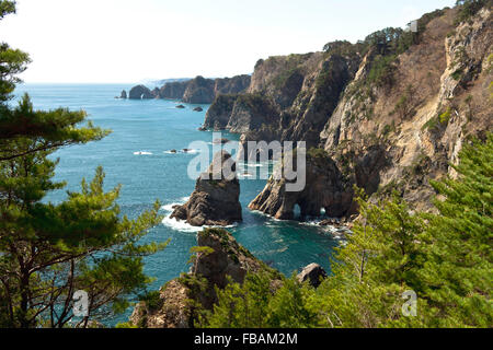
[[[0,0],[0,20],[13,12],[14,1]],[[160,206],[135,220],[122,217],[119,187],[103,190],[101,167],[65,201],[44,201],[65,186],[53,180],[57,162],[48,156],[108,131],[79,127],[82,110],[34,110],[27,95],[12,108],[16,74],[27,62],[26,54],[0,45],[0,327],[87,327],[124,311],[151,281],[142,257],[165,243],[139,240],[160,221]],[[88,295],[82,318],[73,314],[78,291]]]

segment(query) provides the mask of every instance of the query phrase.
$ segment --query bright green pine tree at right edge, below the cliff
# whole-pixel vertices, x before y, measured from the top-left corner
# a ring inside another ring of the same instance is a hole
[[[439,214],[428,215],[424,281],[431,325],[491,327],[493,304],[493,135],[465,145],[458,178],[432,185]]]

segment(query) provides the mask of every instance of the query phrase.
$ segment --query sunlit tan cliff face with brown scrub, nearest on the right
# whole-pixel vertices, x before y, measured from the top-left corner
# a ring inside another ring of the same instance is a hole
[[[369,52],[321,132],[345,175],[374,197],[395,189],[426,210],[429,179],[452,174],[467,138],[491,130],[491,11],[457,26],[456,15],[446,10],[426,25],[389,83],[371,83]]]

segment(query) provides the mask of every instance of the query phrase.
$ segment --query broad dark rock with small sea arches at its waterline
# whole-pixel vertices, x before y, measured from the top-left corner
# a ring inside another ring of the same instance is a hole
[[[295,168],[291,162],[296,162],[296,156],[287,155],[283,161],[289,168]],[[307,154],[306,186],[300,191],[286,190],[286,185],[294,180],[278,175],[279,165],[274,172],[265,189],[249,205],[250,209],[280,220],[295,219],[296,205],[299,206],[301,218],[318,217],[321,209],[329,217],[348,215],[355,210],[351,184],[343,182],[335,162],[323,151]],[[276,176],[280,179],[275,179]]]

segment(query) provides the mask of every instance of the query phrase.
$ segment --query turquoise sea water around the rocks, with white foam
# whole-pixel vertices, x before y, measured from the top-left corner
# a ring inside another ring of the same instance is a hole
[[[191,142],[197,140],[211,143],[211,132],[197,130],[208,105],[202,105],[204,112],[197,113],[192,110],[195,105],[186,105],[185,109],[175,108],[177,102],[174,101],[114,98],[123,89],[128,91],[129,88],[113,84],[24,84],[18,88],[15,94],[20,96],[27,92],[36,109],[84,109],[96,126],[113,130],[102,141],[55,153],[60,159],[56,179],[67,182],[65,190],[78,190],[81,179],[92,178],[95,167],[102,165],[106,173],[106,189],[123,185],[118,200],[123,213],[135,218],[159,199],[163,203],[162,213],[168,217],[171,206],[185,202],[194,190],[195,179],[188,178],[187,166],[196,154],[171,154],[167,151],[188,148]],[[230,140],[239,139],[238,135],[222,136]],[[229,229],[238,242],[286,275],[311,262],[330,270],[330,256],[339,243],[326,232],[328,229],[310,223],[276,221],[246,208],[264,186],[263,179],[241,180],[240,200],[244,221]],[[53,192],[47,199],[60,201],[66,198],[65,190]],[[159,289],[188,270],[190,248],[196,245],[195,232],[196,229],[184,223],[165,219],[146,236],[145,240],[158,242],[171,238],[163,252],[146,258],[146,272],[157,279],[151,289]],[[125,315],[106,323],[115,325],[126,320],[130,313],[131,310],[128,310]]]

